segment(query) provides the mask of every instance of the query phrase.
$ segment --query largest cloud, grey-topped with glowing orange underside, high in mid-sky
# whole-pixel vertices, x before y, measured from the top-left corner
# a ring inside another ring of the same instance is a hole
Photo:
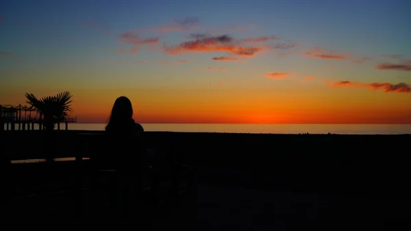
[[[179,55],[185,52],[221,52],[225,51],[234,56],[251,57],[257,53],[270,49],[269,46],[242,46],[240,40],[235,40],[227,34],[208,36],[207,34],[192,34],[190,40],[178,46],[164,46],[164,53]]]

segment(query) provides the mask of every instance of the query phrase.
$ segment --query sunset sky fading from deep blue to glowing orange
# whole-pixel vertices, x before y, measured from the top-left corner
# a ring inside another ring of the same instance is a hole
[[[0,2],[0,104],[140,123],[411,123],[411,1]]]

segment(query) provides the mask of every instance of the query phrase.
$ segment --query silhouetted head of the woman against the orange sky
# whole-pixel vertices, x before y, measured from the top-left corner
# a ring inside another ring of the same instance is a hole
[[[109,123],[122,123],[133,118],[132,101],[121,96],[114,101]]]

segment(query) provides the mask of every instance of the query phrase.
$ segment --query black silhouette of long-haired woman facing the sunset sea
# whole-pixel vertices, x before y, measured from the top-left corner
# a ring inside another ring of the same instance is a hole
[[[132,102],[124,96],[114,101],[110,119],[105,127],[105,150],[100,156],[100,168],[114,170],[114,204],[117,215],[127,216],[129,199],[140,186],[144,161],[142,125],[133,119]],[[132,186],[134,184],[134,186]],[[113,195],[112,195],[113,196]],[[121,213],[121,214],[119,214]]]

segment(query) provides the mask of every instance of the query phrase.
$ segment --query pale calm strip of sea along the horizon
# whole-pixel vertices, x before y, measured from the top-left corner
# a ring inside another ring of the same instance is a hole
[[[105,123],[69,123],[69,130],[103,131]],[[222,132],[254,134],[411,134],[411,124],[216,124],[142,123],[149,132]],[[9,127],[10,129],[10,127]],[[16,127],[17,129],[17,127]],[[38,130],[38,125],[34,126]],[[60,130],[65,124],[60,125]]]

